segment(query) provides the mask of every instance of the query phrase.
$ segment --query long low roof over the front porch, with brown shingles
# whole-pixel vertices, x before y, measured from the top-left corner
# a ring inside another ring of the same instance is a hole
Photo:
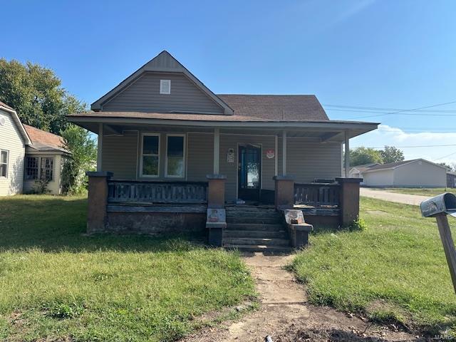
[[[100,123],[114,133],[123,130],[162,128],[199,128],[211,132],[221,128],[230,132],[280,135],[287,130],[289,138],[319,138],[322,141],[343,141],[377,129],[378,123],[343,120],[278,120],[244,115],[198,115],[185,113],[88,112],[68,115],[68,120],[98,134]],[[223,132],[223,131],[221,131]]]

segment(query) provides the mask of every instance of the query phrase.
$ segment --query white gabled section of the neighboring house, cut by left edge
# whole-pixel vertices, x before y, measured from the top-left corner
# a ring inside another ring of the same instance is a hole
[[[26,145],[30,140],[16,111],[0,102],[0,196],[22,192]]]

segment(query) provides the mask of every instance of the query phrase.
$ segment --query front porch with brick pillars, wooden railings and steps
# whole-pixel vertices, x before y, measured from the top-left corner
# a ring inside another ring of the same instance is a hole
[[[306,243],[291,231],[284,239],[285,210],[301,211],[314,227],[351,224],[358,216],[359,180],[341,177],[342,151],[351,136],[360,134],[356,125],[276,126],[87,124],[99,135],[98,171],[88,174],[88,232],[208,231],[212,245],[231,247],[232,239],[248,239],[279,249],[285,247],[279,243]],[[348,154],[345,162],[349,165]],[[247,214],[240,212],[246,222],[230,225],[240,207],[251,207]],[[223,217],[214,219],[213,209]],[[278,219],[269,209],[279,213],[280,223],[263,223],[262,215]]]

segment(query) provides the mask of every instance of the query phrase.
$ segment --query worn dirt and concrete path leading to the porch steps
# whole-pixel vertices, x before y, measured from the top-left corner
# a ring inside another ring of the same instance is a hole
[[[257,283],[261,307],[239,321],[204,328],[182,341],[425,341],[408,333],[379,327],[334,309],[312,306],[304,286],[284,269],[293,256],[244,257]]]

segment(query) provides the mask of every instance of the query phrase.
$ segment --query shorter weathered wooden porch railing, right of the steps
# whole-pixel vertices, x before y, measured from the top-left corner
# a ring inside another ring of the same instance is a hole
[[[311,207],[338,207],[340,187],[337,183],[294,184],[294,204]]]

